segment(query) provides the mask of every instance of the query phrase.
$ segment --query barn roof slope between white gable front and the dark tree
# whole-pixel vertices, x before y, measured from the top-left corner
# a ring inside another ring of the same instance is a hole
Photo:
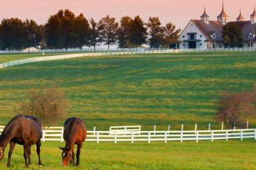
[[[200,31],[204,34],[205,37],[207,37],[210,41],[222,41],[222,25],[221,23],[217,21],[209,21],[209,24],[205,23],[203,20],[192,20],[192,22],[196,25],[197,28],[200,29]],[[212,39],[210,35],[216,32],[216,39]]]

